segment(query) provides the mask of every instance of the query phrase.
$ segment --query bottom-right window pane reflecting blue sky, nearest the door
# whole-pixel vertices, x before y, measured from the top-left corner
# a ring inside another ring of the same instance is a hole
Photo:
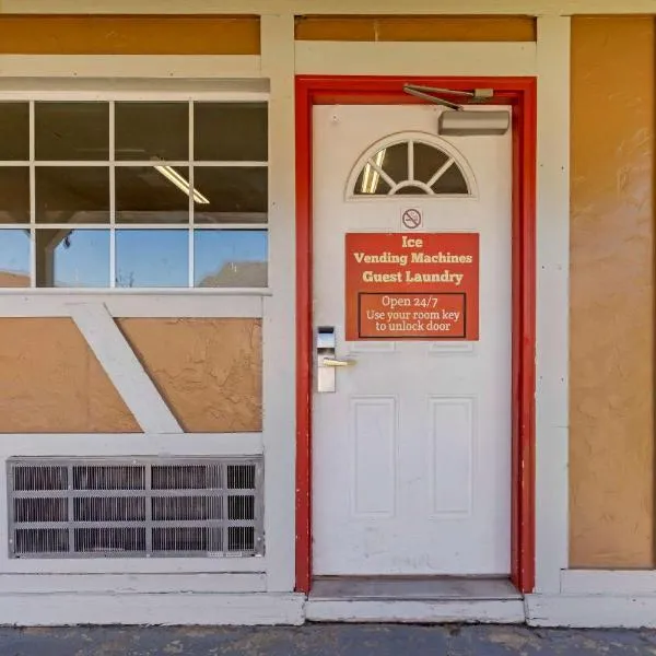
[[[198,230],[194,234],[194,286],[266,288],[265,231]]]

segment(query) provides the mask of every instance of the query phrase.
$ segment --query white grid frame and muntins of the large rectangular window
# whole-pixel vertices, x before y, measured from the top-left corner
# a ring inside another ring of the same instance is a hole
[[[231,222],[231,223],[197,223],[194,213],[194,198],[189,196],[189,220],[187,223],[121,223],[116,219],[116,176],[115,171],[119,167],[152,166],[151,161],[137,160],[116,160],[115,156],[115,105],[120,102],[142,102],[142,103],[187,103],[189,112],[189,156],[186,161],[161,161],[157,165],[188,166],[189,184],[194,188],[194,167],[234,167],[234,168],[266,168],[267,180],[270,185],[270,130],[267,137],[268,156],[266,161],[198,161],[194,160],[194,104],[195,103],[265,103],[267,112],[270,114],[270,94],[266,91],[0,91],[0,103],[16,102],[28,103],[30,112],[30,159],[28,160],[2,160],[0,167],[27,167],[30,169],[30,222],[28,223],[3,223],[0,230],[20,230],[30,231],[30,286],[22,288],[0,288],[0,294],[91,294],[91,295],[114,295],[114,294],[186,294],[186,295],[207,295],[207,294],[239,294],[239,295],[270,295],[270,288],[198,288],[194,286],[195,269],[195,234],[198,232],[216,231],[243,231],[243,232],[265,232],[267,234],[267,268],[270,269],[271,245],[269,239],[269,213],[271,210],[270,194],[267,198],[267,220],[263,223],[253,222]],[[109,156],[107,160],[65,160],[65,161],[38,161],[35,159],[35,103],[38,102],[106,102],[109,104]],[[109,221],[107,223],[37,223],[36,222],[36,188],[35,177],[36,168],[45,166],[80,166],[109,168]],[[40,226],[40,227],[39,227]],[[109,232],[109,285],[108,286],[36,286],[36,231],[47,229],[60,230],[99,230]],[[139,286],[125,288],[116,285],[116,233],[118,230],[178,230],[186,233],[188,242],[188,261],[187,261],[187,286]]]

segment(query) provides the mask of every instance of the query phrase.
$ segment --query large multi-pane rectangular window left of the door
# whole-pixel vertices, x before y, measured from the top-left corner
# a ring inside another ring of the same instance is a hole
[[[0,102],[0,288],[266,288],[263,102]]]

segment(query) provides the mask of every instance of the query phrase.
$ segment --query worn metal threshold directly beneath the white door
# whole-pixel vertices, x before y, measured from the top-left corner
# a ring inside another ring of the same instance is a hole
[[[507,577],[318,576],[311,600],[462,601],[522,599]]]

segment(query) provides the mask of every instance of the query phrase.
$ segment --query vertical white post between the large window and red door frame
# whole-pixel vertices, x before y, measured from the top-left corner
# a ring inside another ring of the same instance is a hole
[[[262,327],[267,587],[294,589],[296,506],[296,308],[294,199],[294,17],[262,16],[269,99],[269,285]]]

